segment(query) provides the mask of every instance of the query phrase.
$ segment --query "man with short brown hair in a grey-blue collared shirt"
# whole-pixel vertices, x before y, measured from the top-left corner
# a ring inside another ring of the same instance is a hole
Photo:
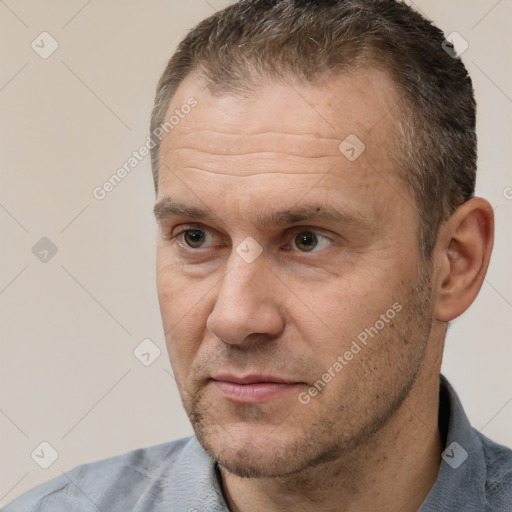
[[[445,48],[392,0],[243,1],[185,38],[151,130],[196,436],[7,511],[512,510],[512,452],[440,377],[493,243],[471,80]]]

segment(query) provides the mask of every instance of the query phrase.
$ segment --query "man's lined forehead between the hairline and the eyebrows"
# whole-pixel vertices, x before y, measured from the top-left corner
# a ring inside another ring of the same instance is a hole
[[[196,106],[183,109],[190,98]],[[303,185],[316,189],[316,199],[331,200],[333,189],[340,189],[347,203],[361,202],[375,187],[381,191],[373,201],[381,206],[397,190],[407,195],[390,159],[397,95],[383,71],[361,69],[316,85],[275,83],[248,97],[212,95],[200,77],[190,75],[166,119],[172,115],[178,122],[161,144],[159,199],[176,190],[191,196],[192,185],[200,199],[216,204],[229,204],[229,194],[267,194],[275,202],[292,189],[300,194]],[[343,144],[362,153],[351,160],[340,150]],[[315,185],[321,176],[326,179]],[[383,180],[392,184],[386,190]],[[224,197],[209,195],[219,188]]]

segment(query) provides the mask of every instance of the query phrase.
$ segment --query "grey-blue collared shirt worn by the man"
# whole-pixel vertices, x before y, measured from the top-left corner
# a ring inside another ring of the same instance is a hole
[[[419,512],[512,512],[512,451],[473,429],[441,376],[445,450]],[[5,512],[229,512],[216,463],[196,437],[78,466]]]

